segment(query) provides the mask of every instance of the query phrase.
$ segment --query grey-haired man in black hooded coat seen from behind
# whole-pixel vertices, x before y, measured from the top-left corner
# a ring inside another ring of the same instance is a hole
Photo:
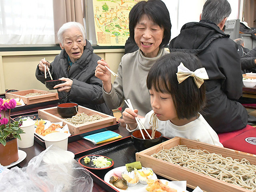
[[[242,71],[236,43],[222,31],[231,7],[227,0],[207,0],[200,22],[185,24],[170,44],[170,52],[198,56],[206,69],[206,106],[203,116],[217,132],[246,127],[248,114],[237,102],[242,96]]]

